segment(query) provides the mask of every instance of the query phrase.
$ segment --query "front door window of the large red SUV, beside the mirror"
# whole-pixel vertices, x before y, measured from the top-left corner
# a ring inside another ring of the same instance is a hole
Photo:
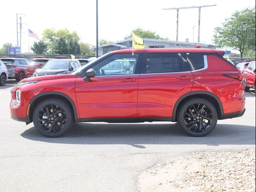
[[[126,62],[134,60],[134,68],[128,67]],[[138,54],[114,54],[92,67],[96,76],[134,74],[138,62]]]

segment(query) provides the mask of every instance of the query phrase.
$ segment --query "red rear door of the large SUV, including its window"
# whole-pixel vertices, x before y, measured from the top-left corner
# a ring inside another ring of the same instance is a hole
[[[183,53],[143,53],[138,84],[138,118],[170,120],[180,96],[192,89],[193,75]]]

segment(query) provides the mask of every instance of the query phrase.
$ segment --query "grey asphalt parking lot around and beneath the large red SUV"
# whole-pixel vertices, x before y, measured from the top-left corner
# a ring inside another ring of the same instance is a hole
[[[10,90],[0,87],[0,191],[134,192],[138,175],[154,164],[198,151],[255,149],[255,93],[246,112],[219,120],[202,138],[177,124],[76,123],[61,138],[45,138],[10,118]]]

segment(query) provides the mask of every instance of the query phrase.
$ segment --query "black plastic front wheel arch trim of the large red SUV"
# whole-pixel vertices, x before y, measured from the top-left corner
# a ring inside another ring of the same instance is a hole
[[[45,100],[45,99],[49,99],[49,98],[57,98],[60,100],[64,100],[64,102],[66,102],[71,107],[71,110],[74,113],[75,122],[79,122],[78,116],[77,116],[77,111],[76,111],[76,105],[74,104],[73,100],[68,95],[66,95],[64,93],[57,92],[57,91],[50,91],[50,92],[40,93],[40,94],[34,96],[30,100],[30,102],[28,103],[27,110],[26,110],[27,111],[27,114],[26,114],[27,124],[31,123],[33,121],[34,108],[36,107],[38,102],[40,102],[40,100],[42,100],[42,99]]]

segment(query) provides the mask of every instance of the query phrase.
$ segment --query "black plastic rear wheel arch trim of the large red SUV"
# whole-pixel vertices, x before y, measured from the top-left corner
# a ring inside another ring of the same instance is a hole
[[[172,112],[172,121],[176,122],[177,121],[177,116],[178,116],[178,109],[184,103],[186,100],[191,99],[191,98],[205,98],[212,102],[214,106],[216,106],[216,110],[218,113],[218,119],[223,119],[224,118],[224,110],[222,106],[222,102],[216,96],[215,94],[208,92],[208,91],[192,91],[187,94],[184,94],[181,96],[177,102],[174,105],[173,112]]]

